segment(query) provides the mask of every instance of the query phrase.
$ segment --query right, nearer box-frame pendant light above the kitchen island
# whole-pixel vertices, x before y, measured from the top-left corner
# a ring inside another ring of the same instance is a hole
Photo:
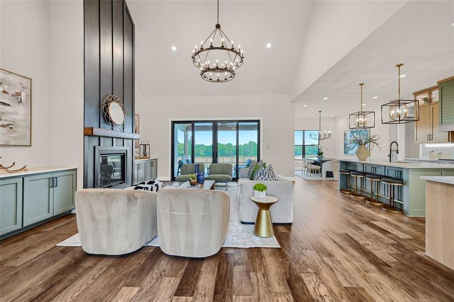
[[[404,124],[419,121],[419,116],[416,114],[419,111],[418,101],[401,100],[401,67],[403,65],[402,63],[396,65],[399,70],[398,99],[382,105],[382,124]]]

